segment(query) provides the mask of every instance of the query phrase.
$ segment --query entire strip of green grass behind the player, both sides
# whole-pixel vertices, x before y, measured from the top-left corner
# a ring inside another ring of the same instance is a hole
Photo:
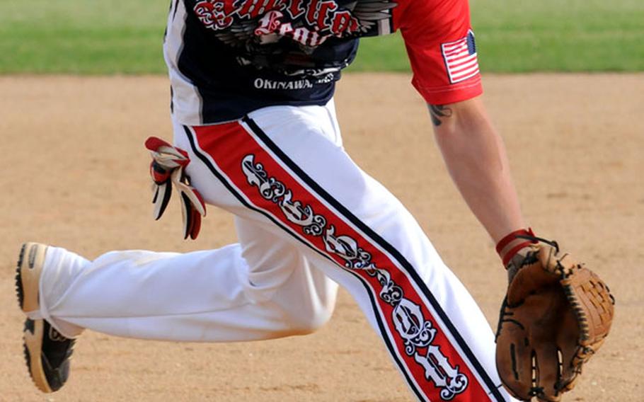
[[[421,1],[421,0],[413,0]],[[164,0],[0,0],[0,74],[163,73]],[[483,71],[644,71],[643,0],[471,0]],[[408,71],[400,35],[350,71]]]

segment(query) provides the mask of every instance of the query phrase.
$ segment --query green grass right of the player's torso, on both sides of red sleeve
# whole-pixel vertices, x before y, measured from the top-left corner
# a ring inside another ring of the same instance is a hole
[[[644,71],[644,0],[470,4],[483,71]],[[350,68],[408,71],[401,35],[363,39]]]

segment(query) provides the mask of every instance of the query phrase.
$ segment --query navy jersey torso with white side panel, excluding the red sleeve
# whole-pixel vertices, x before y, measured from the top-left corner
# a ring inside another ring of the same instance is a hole
[[[175,0],[165,44],[173,109],[188,89],[189,108],[197,109],[192,124],[236,120],[268,105],[323,105],[340,70],[353,61],[357,38],[391,31],[393,6],[382,0],[345,6],[333,0]]]

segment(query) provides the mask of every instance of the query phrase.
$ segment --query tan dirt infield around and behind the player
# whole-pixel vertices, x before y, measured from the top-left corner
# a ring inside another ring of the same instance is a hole
[[[336,97],[345,146],[418,218],[496,325],[505,284],[493,244],[454,190],[405,75],[347,75]],[[616,321],[567,401],[641,400],[644,347],[644,75],[485,76],[529,222],[611,286]],[[21,347],[13,270],[23,241],[94,258],[235,241],[209,209],[181,241],[176,200],[151,219],[143,147],[171,138],[164,77],[0,77],[0,401],[410,401],[376,334],[342,292],[314,335],[261,343],[160,343],[88,331],[68,385],[35,390]]]

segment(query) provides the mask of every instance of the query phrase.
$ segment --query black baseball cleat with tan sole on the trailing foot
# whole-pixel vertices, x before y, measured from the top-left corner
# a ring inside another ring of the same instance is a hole
[[[40,309],[39,283],[47,246],[25,243],[16,268],[16,293],[25,314]],[[74,339],[64,337],[44,319],[25,320],[23,345],[31,379],[42,392],[58,391],[69,377]]]

